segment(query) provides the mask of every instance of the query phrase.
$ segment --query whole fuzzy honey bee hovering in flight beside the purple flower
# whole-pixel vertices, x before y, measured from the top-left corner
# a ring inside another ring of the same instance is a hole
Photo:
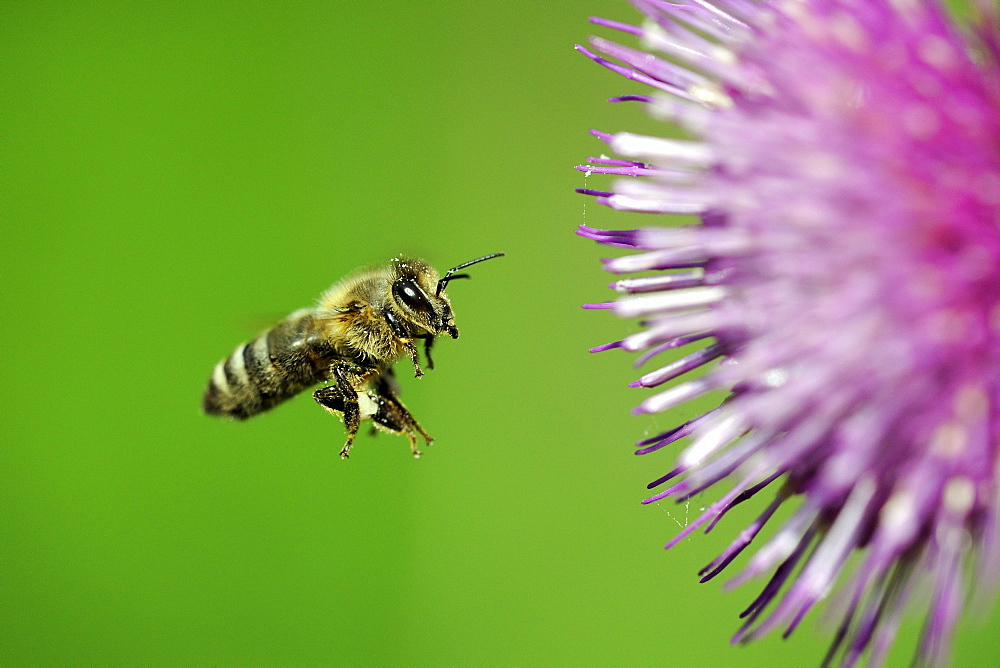
[[[444,277],[423,260],[393,258],[387,265],[357,271],[320,297],[316,308],[295,311],[215,365],[202,407],[209,415],[245,420],[317,383],[313,399],[343,420],[346,459],[364,420],[382,431],[402,434],[414,457],[417,434],[431,437],[399,400],[392,365],[404,355],[417,378],[424,374],[415,341],[423,339],[427,368],[433,369],[434,338],[458,338],[450,281],[455,272],[503,253],[493,253],[449,269]]]

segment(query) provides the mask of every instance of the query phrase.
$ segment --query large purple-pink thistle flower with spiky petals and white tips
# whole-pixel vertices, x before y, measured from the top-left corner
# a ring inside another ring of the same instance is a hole
[[[594,131],[616,157],[579,169],[626,178],[581,192],[700,224],[580,228],[636,251],[608,271],[651,272],[587,305],[643,320],[594,351],[667,359],[635,387],[707,368],[637,413],[726,393],[638,443],[646,454],[690,437],[647,503],[732,485],[667,547],[776,489],[701,572],[714,578],[799,499],[734,580],[770,576],[734,642],[791,633],[835,591],[826,662],[867,651],[876,665],[926,584],[917,662],[947,661],[966,582],[982,591],[1000,571],[996,12],[982,3],[963,35],[933,0],[632,4],[641,25],[592,21],[640,48],[578,48],[648,88],[612,101],[639,102],[690,138]]]

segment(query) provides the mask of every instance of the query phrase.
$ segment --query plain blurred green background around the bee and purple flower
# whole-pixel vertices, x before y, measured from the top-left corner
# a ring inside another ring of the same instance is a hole
[[[671,453],[631,443],[632,325],[607,253],[636,222],[572,190],[648,128],[574,53],[624,3],[28,3],[0,8],[4,664],[818,663],[730,647],[762,583],[696,571],[741,529],[660,548],[710,494],[641,507]],[[359,437],[308,396],[204,417],[215,362],[347,271],[447,268],[462,330],[401,374],[437,439]],[[736,566],[745,563],[745,559]],[[736,572],[734,569],[733,573]],[[993,665],[1000,617],[956,665]],[[919,619],[894,665],[907,665]]]

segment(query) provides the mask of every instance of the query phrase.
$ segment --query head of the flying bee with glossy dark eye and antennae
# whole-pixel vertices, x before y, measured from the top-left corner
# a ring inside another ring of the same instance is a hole
[[[439,278],[437,270],[423,260],[398,258],[392,261],[395,278],[392,282],[392,301],[398,310],[398,316],[409,325],[412,336],[430,334],[438,336],[447,334],[453,339],[458,338],[458,328],[455,326],[455,315],[451,310],[451,301],[444,289],[450,281],[458,278],[469,278],[468,274],[456,274],[477,262],[483,262],[503,253],[485,255],[470,262],[465,262],[449,269],[444,278]],[[392,316],[394,317],[394,316]],[[387,316],[394,330],[398,325]],[[402,323],[399,323],[402,324]]]

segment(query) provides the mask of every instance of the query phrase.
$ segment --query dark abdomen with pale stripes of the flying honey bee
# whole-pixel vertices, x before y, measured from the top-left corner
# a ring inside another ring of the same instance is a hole
[[[296,311],[216,364],[202,401],[205,412],[244,420],[325,380],[334,353],[319,336],[313,313]]]

